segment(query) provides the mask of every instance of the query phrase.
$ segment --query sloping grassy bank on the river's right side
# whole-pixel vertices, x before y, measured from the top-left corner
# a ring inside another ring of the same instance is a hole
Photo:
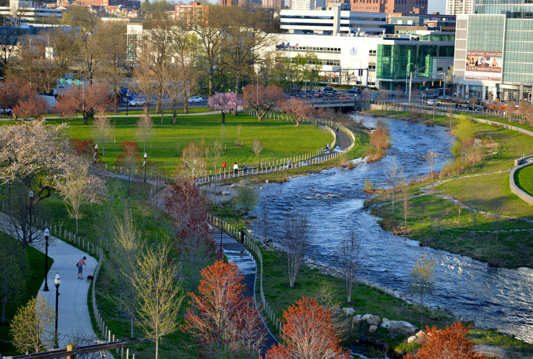
[[[381,111],[379,115],[387,113]],[[396,112],[391,115],[407,116]],[[452,120],[452,126],[455,123]],[[437,116],[436,124],[449,127],[450,118]],[[529,154],[533,138],[482,123],[474,123],[474,129],[483,150],[481,161],[472,165],[455,161],[445,166],[443,172],[447,175],[412,184],[408,196],[423,194],[421,187],[429,187],[424,196],[410,199],[407,223],[399,190],[394,215],[390,203],[372,212],[383,218],[385,229],[408,235],[424,245],[496,266],[533,267],[533,234],[511,231],[533,229],[533,223],[527,222],[533,219],[533,208],[511,194],[508,183],[508,170],[515,158]],[[390,201],[389,192],[373,198],[371,203],[384,201]],[[486,213],[476,215],[470,209]]]

